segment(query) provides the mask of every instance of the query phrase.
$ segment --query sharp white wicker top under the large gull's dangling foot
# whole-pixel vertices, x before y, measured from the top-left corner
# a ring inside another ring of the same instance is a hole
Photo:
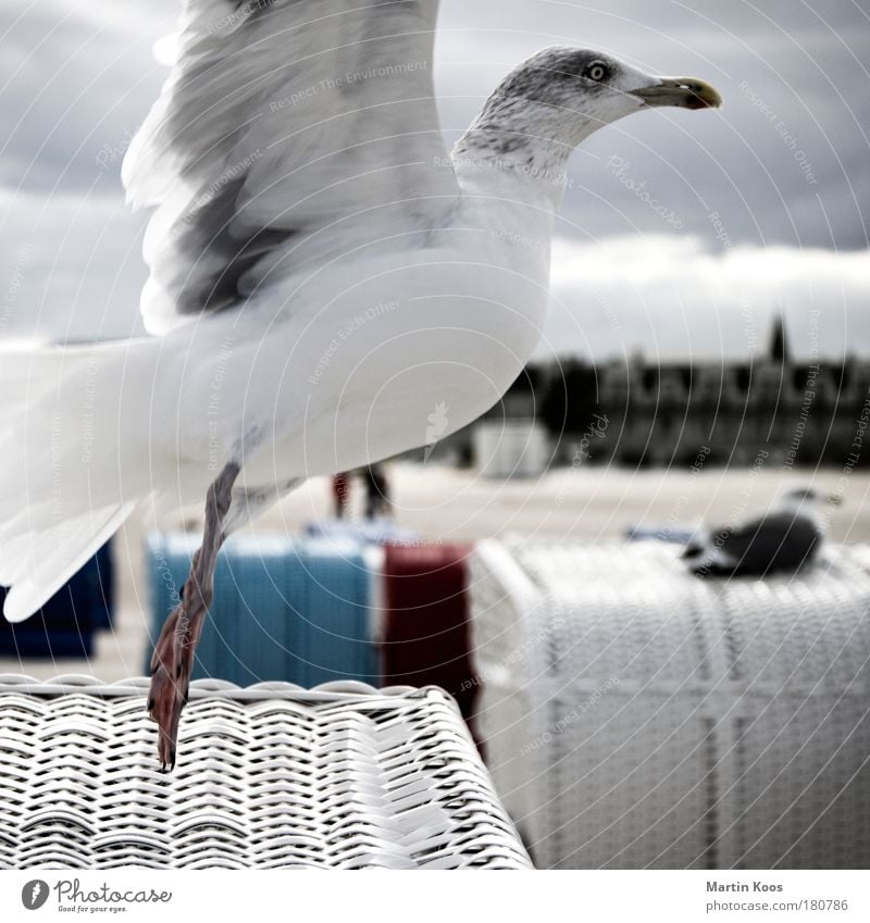
[[[440,689],[195,682],[166,775],[146,689],[0,676],[0,868],[530,868]]]

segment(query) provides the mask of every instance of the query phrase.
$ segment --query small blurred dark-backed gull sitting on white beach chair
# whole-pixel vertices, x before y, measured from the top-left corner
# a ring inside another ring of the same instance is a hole
[[[765,515],[706,531],[686,546],[683,559],[700,577],[794,573],[819,554],[825,534],[823,506],[840,502],[838,495],[813,487],[788,490]]]

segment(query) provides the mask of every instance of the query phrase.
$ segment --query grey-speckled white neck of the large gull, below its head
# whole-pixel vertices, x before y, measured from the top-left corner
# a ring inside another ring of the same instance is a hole
[[[568,160],[597,124],[554,107],[496,91],[452,151],[460,186],[513,195],[558,212]]]

